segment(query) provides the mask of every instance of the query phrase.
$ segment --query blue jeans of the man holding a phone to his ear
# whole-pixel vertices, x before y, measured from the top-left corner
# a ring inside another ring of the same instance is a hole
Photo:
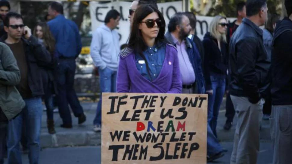
[[[27,146],[29,150],[28,158],[30,164],[39,163],[39,152],[41,148],[40,132],[42,123],[42,99],[40,97],[34,97],[24,99],[24,102],[26,105],[20,114],[8,123],[7,147],[9,164],[22,163],[19,143],[23,124],[26,129]]]

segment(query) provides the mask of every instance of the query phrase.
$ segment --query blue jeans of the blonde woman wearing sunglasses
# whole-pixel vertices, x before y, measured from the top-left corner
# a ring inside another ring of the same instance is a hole
[[[216,126],[219,109],[225,93],[225,75],[211,74],[213,95],[208,95],[208,123],[217,138]]]

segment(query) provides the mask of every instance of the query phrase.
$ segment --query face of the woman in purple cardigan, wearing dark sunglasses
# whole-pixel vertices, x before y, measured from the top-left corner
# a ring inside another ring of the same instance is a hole
[[[139,24],[143,38],[156,38],[161,26],[161,20],[156,12],[149,14]]]

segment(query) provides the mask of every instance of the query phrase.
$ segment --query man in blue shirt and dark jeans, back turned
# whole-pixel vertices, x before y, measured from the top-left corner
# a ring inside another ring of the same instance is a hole
[[[78,124],[82,124],[86,120],[74,90],[75,59],[81,51],[82,44],[76,23],[67,20],[63,12],[63,6],[58,2],[51,2],[48,6],[48,14],[52,18],[48,22],[48,26],[56,40],[55,58],[58,60],[56,72],[57,97],[59,114],[63,120],[61,127],[72,128],[72,118],[68,104],[70,104],[74,116],[78,117]]]

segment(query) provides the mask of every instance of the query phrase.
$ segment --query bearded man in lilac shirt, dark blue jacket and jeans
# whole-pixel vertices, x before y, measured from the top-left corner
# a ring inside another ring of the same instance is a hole
[[[173,15],[168,24],[165,38],[177,48],[179,68],[182,77],[182,93],[204,93],[204,78],[201,67],[200,53],[194,42],[188,38],[191,26],[190,20],[183,13]],[[207,126],[207,161],[213,161],[224,155],[224,150]]]

